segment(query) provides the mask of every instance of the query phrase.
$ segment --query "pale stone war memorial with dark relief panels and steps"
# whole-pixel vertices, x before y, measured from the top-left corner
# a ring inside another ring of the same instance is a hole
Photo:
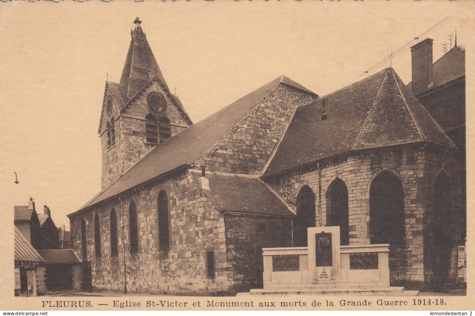
[[[240,295],[415,296],[390,287],[389,244],[340,246],[340,227],[309,227],[308,247],[264,248],[264,288]]]

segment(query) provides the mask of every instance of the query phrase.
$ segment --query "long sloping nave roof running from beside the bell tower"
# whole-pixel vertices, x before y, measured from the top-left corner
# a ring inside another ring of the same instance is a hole
[[[155,146],[117,181],[87,202],[81,210],[156,178],[165,172],[196,162],[280,84],[301,89],[300,85],[285,76],[278,77],[261,86]]]

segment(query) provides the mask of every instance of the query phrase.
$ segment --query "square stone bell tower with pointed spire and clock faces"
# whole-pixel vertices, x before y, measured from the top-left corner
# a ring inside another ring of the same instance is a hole
[[[119,83],[107,80],[98,134],[104,190],[151,150],[193,124],[171,94],[152,49],[135,19]]]

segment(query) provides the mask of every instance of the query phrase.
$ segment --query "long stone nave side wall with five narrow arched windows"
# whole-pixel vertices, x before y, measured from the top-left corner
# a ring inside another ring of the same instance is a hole
[[[157,197],[165,190],[169,201],[170,241],[168,253],[159,251]],[[139,251],[130,254],[129,203],[138,213]],[[145,187],[100,208],[70,217],[74,249],[82,256],[81,220],[86,222],[87,260],[91,261],[95,290],[124,289],[160,294],[215,294],[232,288],[232,271],[226,263],[224,217],[204,195],[194,177],[186,172]],[[117,213],[118,257],[111,256],[109,214]],[[95,258],[94,216],[99,214],[101,257]],[[124,256],[125,251],[125,272]],[[216,276],[206,275],[206,252],[214,251]]]

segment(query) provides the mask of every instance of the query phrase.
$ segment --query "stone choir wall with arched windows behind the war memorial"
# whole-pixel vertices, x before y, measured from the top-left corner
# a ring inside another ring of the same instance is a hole
[[[443,165],[449,167],[453,162],[453,153],[432,146],[400,145],[334,157],[320,163],[320,172],[317,166],[310,166],[266,178],[265,181],[293,208],[300,188],[304,185],[312,188],[315,194],[316,225],[324,226],[326,192],[334,179],[341,179],[348,188],[350,244],[370,244],[371,180],[383,170],[396,174],[404,192],[406,249],[403,255],[406,259],[405,265],[393,271],[391,278],[406,287],[421,288],[424,282],[424,214],[432,198],[428,194],[428,182],[435,180],[433,169],[440,169]],[[452,176],[457,177],[455,170]],[[452,196],[456,203],[456,194]]]

